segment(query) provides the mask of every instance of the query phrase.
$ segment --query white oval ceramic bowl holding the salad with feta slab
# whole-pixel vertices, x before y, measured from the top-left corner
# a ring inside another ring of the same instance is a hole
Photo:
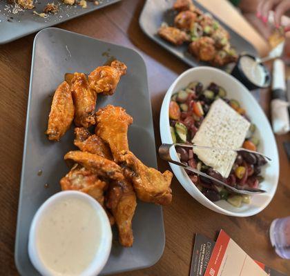
[[[207,66],[191,68],[182,73],[182,75],[180,75],[180,77],[173,82],[164,97],[160,113],[160,134],[162,143],[173,143],[168,117],[168,108],[171,95],[186,87],[191,81],[200,81],[204,86],[208,86],[211,82],[217,83],[226,90],[227,98],[237,99],[241,106],[246,109],[247,115],[257,126],[255,136],[260,139],[258,150],[260,152],[264,152],[265,155],[272,159],[270,164],[262,167],[262,176],[264,177],[264,181],[260,184],[260,188],[267,190],[267,193],[252,196],[251,204],[243,204],[241,208],[236,208],[225,200],[220,200],[214,203],[207,199],[200,192],[200,190],[197,189],[183,168],[174,164],[170,164],[170,166],[185,190],[207,208],[224,215],[231,215],[235,217],[248,217],[255,215],[266,208],[266,206],[270,203],[271,199],[275,195],[278,185],[278,150],[269,121],[264,115],[264,112],[262,108],[260,108],[258,102],[254,99],[249,90],[247,90],[247,88],[240,83],[240,81],[226,72],[216,68]],[[179,161],[177,152],[174,148],[171,151],[171,157]]]

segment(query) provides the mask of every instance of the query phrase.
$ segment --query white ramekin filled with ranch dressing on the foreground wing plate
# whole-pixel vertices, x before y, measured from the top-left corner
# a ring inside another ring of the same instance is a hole
[[[28,253],[42,275],[97,275],[106,264],[112,231],[104,209],[84,193],[50,197],[32,220]]]

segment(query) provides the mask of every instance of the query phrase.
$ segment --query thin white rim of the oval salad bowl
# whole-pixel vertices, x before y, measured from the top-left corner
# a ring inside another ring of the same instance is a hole
[[[168,106],[165,106],[165,101],[166,100],[167,101],[170,101],[171,95],[173,94],[173,92],[175,92],[174,91],[175,90],[175,86],[177,85],[177,83],[182,78],[184,78],[184,76],[189,75],[192,72],[199,71],[199,70],[209,70],[209,71],[212,71],[212,72],[219,72],[221,75],[224,75],[226,77],[229,77],[231,79],[231,81],[233,81],[237,86],[242,86],[243,90],[246,90],[247,91],[248,97],[250,97],[251,98],[251,101],[253,101],[253,104],[255,105],[255,108],[258,108],[259,112],[261,112],[262,115],[264,116],[264,118],[266,119],[267,124],[268,124],[268,127],[271,130],[271,125],[269,124],[269,121],[268,121],[266,115],[264,115],[264,111],[262,110],[261,106],[255,100],[255,98],[253,97],[253,95],[251,95],[251,92],[249,92],[248,88],[246,88],[240,81],[238,81],[238,79],[235,79],[235,77],[229,75],[228,73],[226,73],[223,70],[220,70],[218,68],[213,68],[213,67],[210,67],[210,66],[198,66],[198,67],[195,67],[195,68],[189,68],[188,70],[182,72],[182,74],[180,76],[178,76],[177,79],[175,79],[175,81],[173,81],[173,83],[171,84],[171,86],[168,88],[168,90],[166,92],[166,95],[164,96],[164,99],[162,101],[162,108],[161,108],[161,112],[160,112],[160,136],[161,136],[161,139],[162,139],[162,143],[164,143],[164,134],[162,133],[162,123],[164,123],[163,120],[166,121],[166,132],[167,132],[166,135],[168,135],[170,137],[171,142],[173,143],[172,138],[171,138],[171,133],[170,133],[170,124],[169,124],[168,109],[167,109]],[[169,97],[169,95],[170,95],[170,97]],[[164,108],[166,108],[166,110],[164,110]],[[162,114],[163,113],[164,114],[167,114],[166,119],[163,119],[162,118]],[[205,197],[200,192],[200,190],[198,190],[197,187],[195,186],[195,187],[193,187],[193,189],[196,190],[196,192],[200,196],[203,197],[203,199],[206,201],[206,204],[208,204],[209,206],[204,205],[202,202],[200,202],[200,204],[206,206],[207,208],[210,208],[211,210],[214,210],[215,212],[222,213],[224,215],[234,216],[234,217],[249,217],[249,216],[252,216],[252,215],[256,215],[256,214],[260,213],[262,210],[264,210],[264,208],[266,208],[269,205],[269,203],[273,199],[273,196],[275,195],[276,190],[277,190],[278,178],[279,178],[279,167],[280,167],[279,166],[278,148],[277,148],[277,144],[276,144],[276,139],[275,139],[275,137],[273,135],[273,131],[272,130],[271,130],[271,132],[269,134],[271,135],[271,139],[274,141],[273,147],[274,147],[274,151],[275,151],[275,157],[272,157],[272,159],[273,160],[276,160],[277,167],[278,167],[278,173],[277,173],[276,179],[274,179],[274,181],[273,181],[273,192],[272,192],[271,197],[267,198],[264,201],[264,204],[262,204],[262,206],[260,206],[258,208],[258,210],[246,210],[244,212],[236,213],[236,212],[233,212],[233,211],[230,211],[230,210],[226,210],[226,209],[224,209],[224,208],[216,205],[213,201],[211,201],[207,197]],[[174,150],[174,155],[175,155],[175,158],[177,158],[177,152],[175,150]],[[174,164],[170,164],[170,163],[169,163],[169,165],[171,166],[171,169],[173,170],[173,173],[175,173],[175,168],[177,168],[178,166],[176,166]],[[178,167],[178,168],[180,168],[180,167]],[[180,170],[185,172],[184,168],[180,168]],[[186,181],[188,181],[188,180],[186,180]],[[186,189],[186,187],[181,182],[180,182],[180,184],[184,187],[184,189]],[[186,190],[186,191],[187,191],[187,193],[189,193],[188,190]],[[189,193],[189,194],[191,195],[191,193]],[[193,195],[191,195],[191,196],[193,197]],[[197,200],[197,199],[195,199],[195,200]],[[197,200],[197,201],[199,201],[199,200]]]

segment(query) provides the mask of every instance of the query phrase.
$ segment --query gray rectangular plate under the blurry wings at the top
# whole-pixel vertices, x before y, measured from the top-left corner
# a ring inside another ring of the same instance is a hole
[[[195,57],[190,55],[187,51],[186,44],[182,46],[173,46],[171,43],[157,35],[157,30],[160,28],[162,22],[166,22],[168,25],[173,26],[174,13],[172,12],[172,7],[174,2],[175,0],[147,0],[139,18],[139,24],[142,30],[148,35],[148,37],[166,48],[169,52],[173,53],[173,55],[182,59],[182,61],[189,64],[189,66],[209,66],[209,63],[198,61]],[[200,8],[200,10],[208,12],[208,10],[202,7],[199,3],[194,2],[194,4],[197,8]],[[215,19],[219,21],[217,18]],[[220,22],[220,25],[229,32],[231,36],[231,45],[238,53],[248,52],[249,54],[257,55],[257,51],[253,48],[251,43],[242,38],[224,23]]]

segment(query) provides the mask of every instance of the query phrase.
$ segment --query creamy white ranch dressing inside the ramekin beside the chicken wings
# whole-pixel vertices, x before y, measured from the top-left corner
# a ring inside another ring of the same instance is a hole
[[[39,220],[36,246],[53,275],[80,275],[93,261],[100,244],[101,221],[87,201],[57,201]]]

